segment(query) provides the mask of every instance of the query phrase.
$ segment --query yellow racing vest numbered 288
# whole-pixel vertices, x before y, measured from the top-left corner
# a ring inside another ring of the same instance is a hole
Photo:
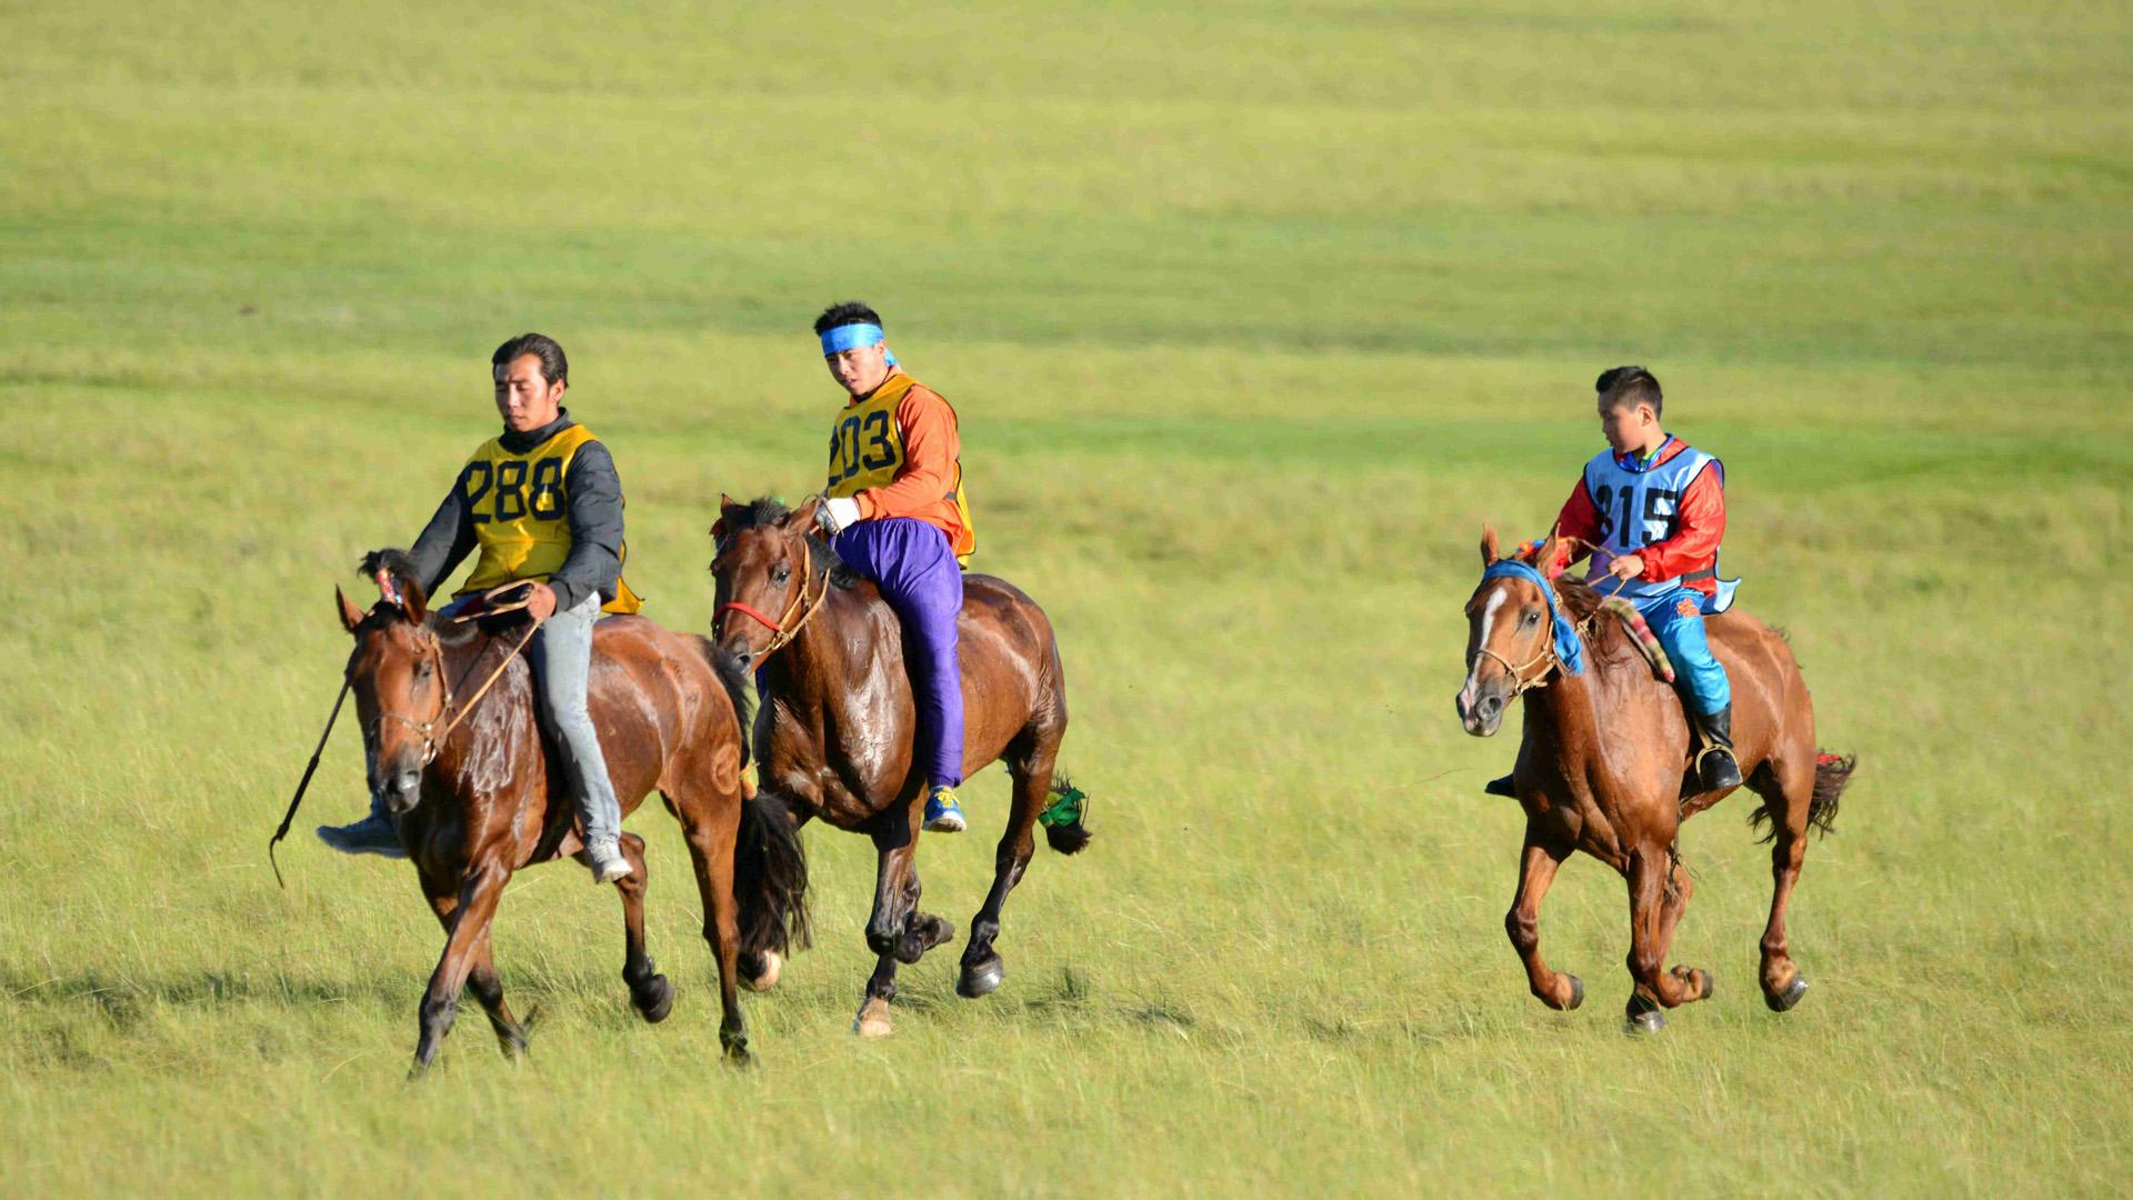
[[[570,495],[563,478],[578,446],[593,431],[572,425],[523,455],[503,448],[501,438],[482,442],[459,472],[459,491],[474,517],[474,538],[482,557],[456,591],[469,596],[523,579],[546,581],[570,557]],[[629,547],[623,547],[623,562]],[[614,600],[602,613],[636,613],[644,600],[614,577]]]

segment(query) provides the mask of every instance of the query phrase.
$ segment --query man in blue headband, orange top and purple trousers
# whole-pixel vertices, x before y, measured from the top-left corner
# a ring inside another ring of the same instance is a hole
[[[851,395],[830,433],[830,485],[817,508],[836,557],[881,587],[902,621],[926,771],[926,828],[960,833],[962,668],[956,615],[977,540],[962,495],[956,410],[896,365],[881,316],[857,301],[815,318],[823,363]]]

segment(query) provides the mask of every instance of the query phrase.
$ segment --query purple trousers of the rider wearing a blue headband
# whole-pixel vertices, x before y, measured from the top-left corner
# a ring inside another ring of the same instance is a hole
[[[962,662],[956,658],[962,568],[947,534],[913,517],[883,517],[849,525],[832,544],[845,566],[881,587],[881,598],[904,623],[904,666],[919,711],[915,764],[936,788],[962,784]]]

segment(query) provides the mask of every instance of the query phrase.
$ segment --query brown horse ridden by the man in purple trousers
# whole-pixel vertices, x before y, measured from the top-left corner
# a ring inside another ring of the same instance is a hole
[[[793,824],[819,816],[875,839],[879,871],[866,944],[879,963],[866,980],[855,1031],[881,1036],[889,1031],[896,965],[917,963],[956,933],[947,920],[917,910],[926,779],[913,767],[917,711],[904,675],[902,626],[875,585],[857,581],[813,536],[817,506],[819,500],[808,500],[789,512],[774,500],[721,498],[710,564],[715,638],[761,664],[755,747],[764,794],[781,801]],[[1015,792],[994,852],[992,890],[971,920],[956,982],[960,995],[979,997],[1005,976],[992,942],[1000,933],[1000,905],[1030,863],[1030,833],[1054,794],[1066,692],[1052,621],[1013,585],[990,574],[964,577],[958,632],[964,773],[1005,760]],[[1045,839],[1075,854],[1090,833],[1073,814],[1047,818]],[[759,986],[776,980],[776,959],[742,961]]]

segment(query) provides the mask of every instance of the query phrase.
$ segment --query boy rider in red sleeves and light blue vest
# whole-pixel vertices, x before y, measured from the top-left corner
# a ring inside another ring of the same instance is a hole
[[[1563,566],[1589,551],[1587,579],[1645,615],[1681,673],[1683,707],[1704,741],[1696,756],[1700,788],[1736,788],[1732,690],[1704,641],[1704,615],[1723,613],[1734,587],[1717,577],[1726,465],[1659,425],[1659,380],[1645,367],[1615,367],[1593,386],[1608,448],[1585,463],[1555,519],[1570,547]],[[1508,775],[1487,790],[1517,796]]]

